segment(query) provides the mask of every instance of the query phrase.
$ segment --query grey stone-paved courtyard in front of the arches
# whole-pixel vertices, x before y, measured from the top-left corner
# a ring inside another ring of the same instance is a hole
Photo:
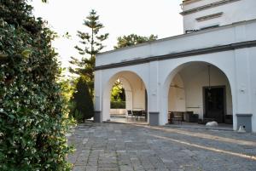
[[[75,171],[256,170],[256,134],[85,123],[68,139]]]

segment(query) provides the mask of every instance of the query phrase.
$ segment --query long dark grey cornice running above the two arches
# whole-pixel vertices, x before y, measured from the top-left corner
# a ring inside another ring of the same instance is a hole
[[[256,40],[241,42],[241,43],[230,43],[230,44],[215,46],[211,48],[200,48],[200,49],[189,50],[189,51],[184,51],[180,53],[152,56],[152,57],[139,59],[139,60],[129,60],[129,61],[113,63],[109,65],[96,66],[95,70],[98,71],[98,70],[106,70],[106,69],[112,69],[112,68],[118,68],[118,67],[124,67],[124,66],[135,66],[139,64],[152,62],[152,61],[171,60],[171,59],[177,59],[177,58],[191,57],[191,56],[200,55],[200,54],[212,54],[216,52],[223,52],[223,51],[229,51],[229,50],[234,50],[238,48],[250,48],[250,47],[256,47]]]

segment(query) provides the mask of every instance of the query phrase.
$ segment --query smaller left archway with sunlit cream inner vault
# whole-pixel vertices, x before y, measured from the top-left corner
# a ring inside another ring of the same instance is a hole
[[[107,85],[104,88],[102,120],[110,120],[110,94],[113,88],[113,83],[117,79],[119,79],[119,81],[123,84],[123,88],[125,88],[125,114],[127,115],[128,110],[143,111],[146,112],[147,118],[147,88],[143,82],[143,79],[133,71],[119,71],[110,77]]]

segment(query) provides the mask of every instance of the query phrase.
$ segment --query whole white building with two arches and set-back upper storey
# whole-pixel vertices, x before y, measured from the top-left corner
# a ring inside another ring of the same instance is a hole
[[[110,91],[123,83],[127,110],[168,123],[193,111],[256,132],[256,1],[186,0],[184,34],[96,55],[95,121],[109,120]]]

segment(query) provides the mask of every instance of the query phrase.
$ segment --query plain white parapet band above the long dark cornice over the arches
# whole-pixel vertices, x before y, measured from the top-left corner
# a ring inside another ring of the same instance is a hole
[[[255,1],[256,2],[256,1]],[[244,43],[256,43],[256,20],[195,31],[190,34],[119,48],[96,55],[96,70],[137,65],[150,61],[183,57],[191,53],[230,50]],[[251,46],[251,45],[250,45]]]

